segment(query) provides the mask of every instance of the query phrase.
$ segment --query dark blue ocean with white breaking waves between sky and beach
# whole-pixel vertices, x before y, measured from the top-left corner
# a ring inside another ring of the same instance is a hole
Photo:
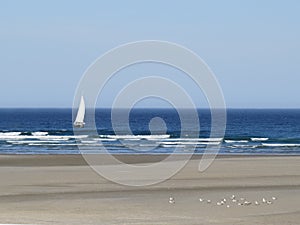
[[[200,135],[193,139],[180,138],[180,118],[173,109],[133,109],[132,134],[124,131],[122,135],[115,134],[110,113],[97,109],[99,135],[78,138],[73,134],[71,109],[0,109],[0,154],[79,154],[78,145],[91,152],[103,145],[112,153],[168,154],[175,147],[184,153],[191,145],[196,153],[203,153],[209,145],[220,145],[221,154],[300,154],[299,109],[229,109],[222,140],[208,138],[209,110],[198,110]],[[149,122],[154,117],[165,121],[166,134],[160,130],[151,134]],[[121,121],[118,130],[124,125]],[[191,130],[194,125],[190,124]]]

